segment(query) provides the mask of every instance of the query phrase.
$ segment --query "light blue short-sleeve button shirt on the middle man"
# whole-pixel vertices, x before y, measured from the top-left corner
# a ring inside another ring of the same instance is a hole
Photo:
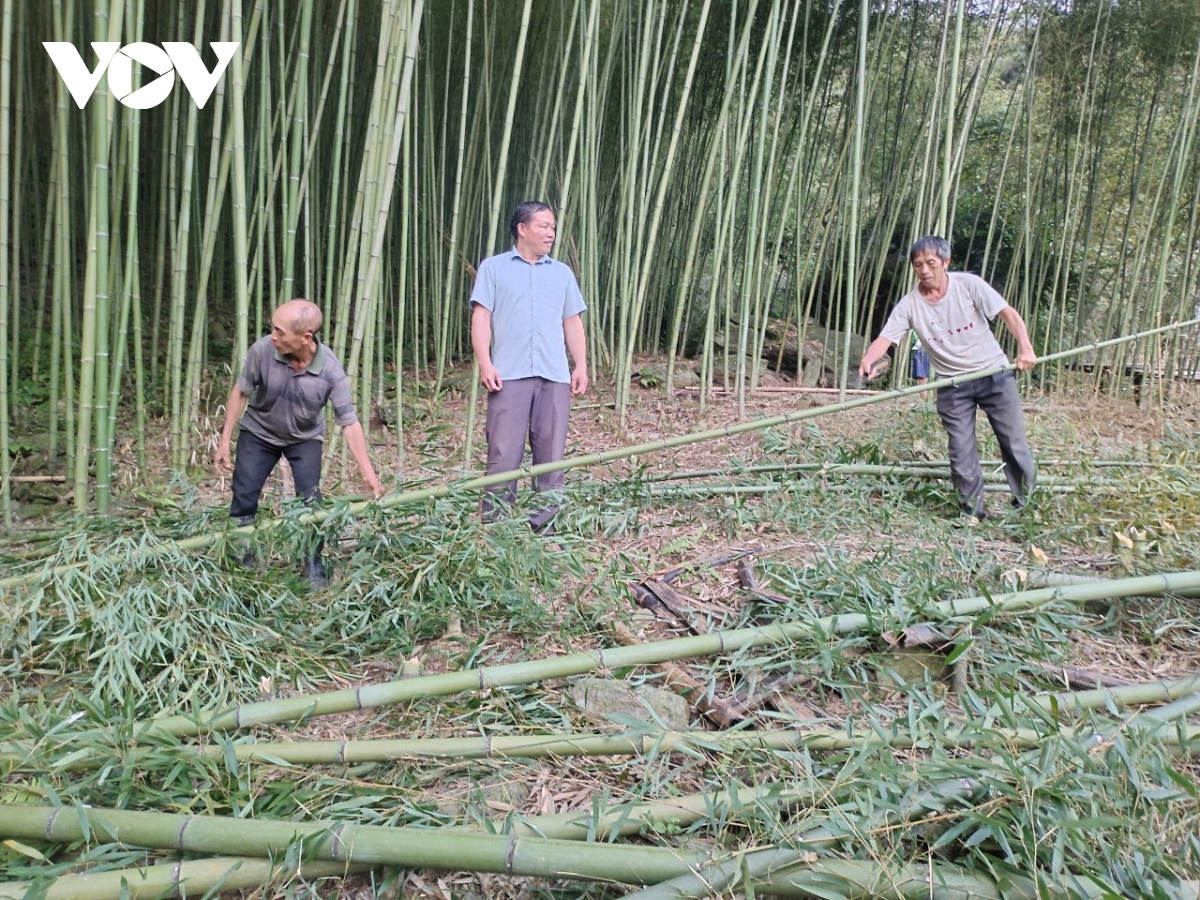
[[[548,254],[529,263],[514,247],[479,264],[470,302],[492,313],[492,365],[500,378],[570,383],[563,322],[587,306],[569,265]]]

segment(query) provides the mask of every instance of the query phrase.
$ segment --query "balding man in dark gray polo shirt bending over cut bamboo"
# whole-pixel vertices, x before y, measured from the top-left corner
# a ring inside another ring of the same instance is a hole
[[[271,334],[246,353],[241,374],[229,391],[216,467],[229,470],[229,442],[241,420],[229,505],[229,516],[240,526],[253,524],[263,485],[281,456],[292,467],[296,497],[320,499],[326,403],[334,404],[335,421],[342,426],[346,445],[371,493],[380,497],[384,492],[354,413],[346,370],[317,340],[320,325],[320,308],[314,302],[288,300],[271,316]],[[308,580],[318,588],[329,584],[320,551],[318,542],[307,560]]]

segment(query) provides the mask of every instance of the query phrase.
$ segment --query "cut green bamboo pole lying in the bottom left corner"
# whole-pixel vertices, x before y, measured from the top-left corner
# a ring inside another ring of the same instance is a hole
[[[142,865],[104,872],[61,875],[49,884],[32,881],[0,883],[0,900],[158,900],[163,896],[211,896],[233,890],[254,890],[292,881],[336,878],[366,866],[305,860],[300,865],[271,859],[216,857]]]

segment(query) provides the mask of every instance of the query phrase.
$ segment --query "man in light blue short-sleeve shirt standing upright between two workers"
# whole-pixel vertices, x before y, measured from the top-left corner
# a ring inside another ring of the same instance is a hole
[[[512,212],[512,250],[479,264],[470,294],[470,346],[479,380],[487,389],[487,474],[521,467],[526,440],[534,466],[566,452],[571,395],[588,389],[587,308],[570,266],[551,259],[557,223],[550,206],[526,200]],[[571,354],[575,368],[568,365]],[[562,472],[534,479],[538,491],[563,487]],[[516,481],[487,488],[484,517],[497,517],[497,500],[516,498]],[[529,516],[540,534],[553,530],[558,506]]]

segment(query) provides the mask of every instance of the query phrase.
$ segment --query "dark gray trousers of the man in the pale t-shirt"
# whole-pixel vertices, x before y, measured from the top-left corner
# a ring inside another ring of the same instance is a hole
[[[1016,377],[1000,372],[989,378],[937,389],[937,414],[949,438],[950,476],[959,492],[962,511],[982,515],[983,469],[979,467],[979,444],[976,440],[976,409],[982,409],[991,422],[1004,461],[1004,476],[1016,505],[1024,505],[1033,490],[1033,454],[1025,437],[1025,414],[1016,391]]]

